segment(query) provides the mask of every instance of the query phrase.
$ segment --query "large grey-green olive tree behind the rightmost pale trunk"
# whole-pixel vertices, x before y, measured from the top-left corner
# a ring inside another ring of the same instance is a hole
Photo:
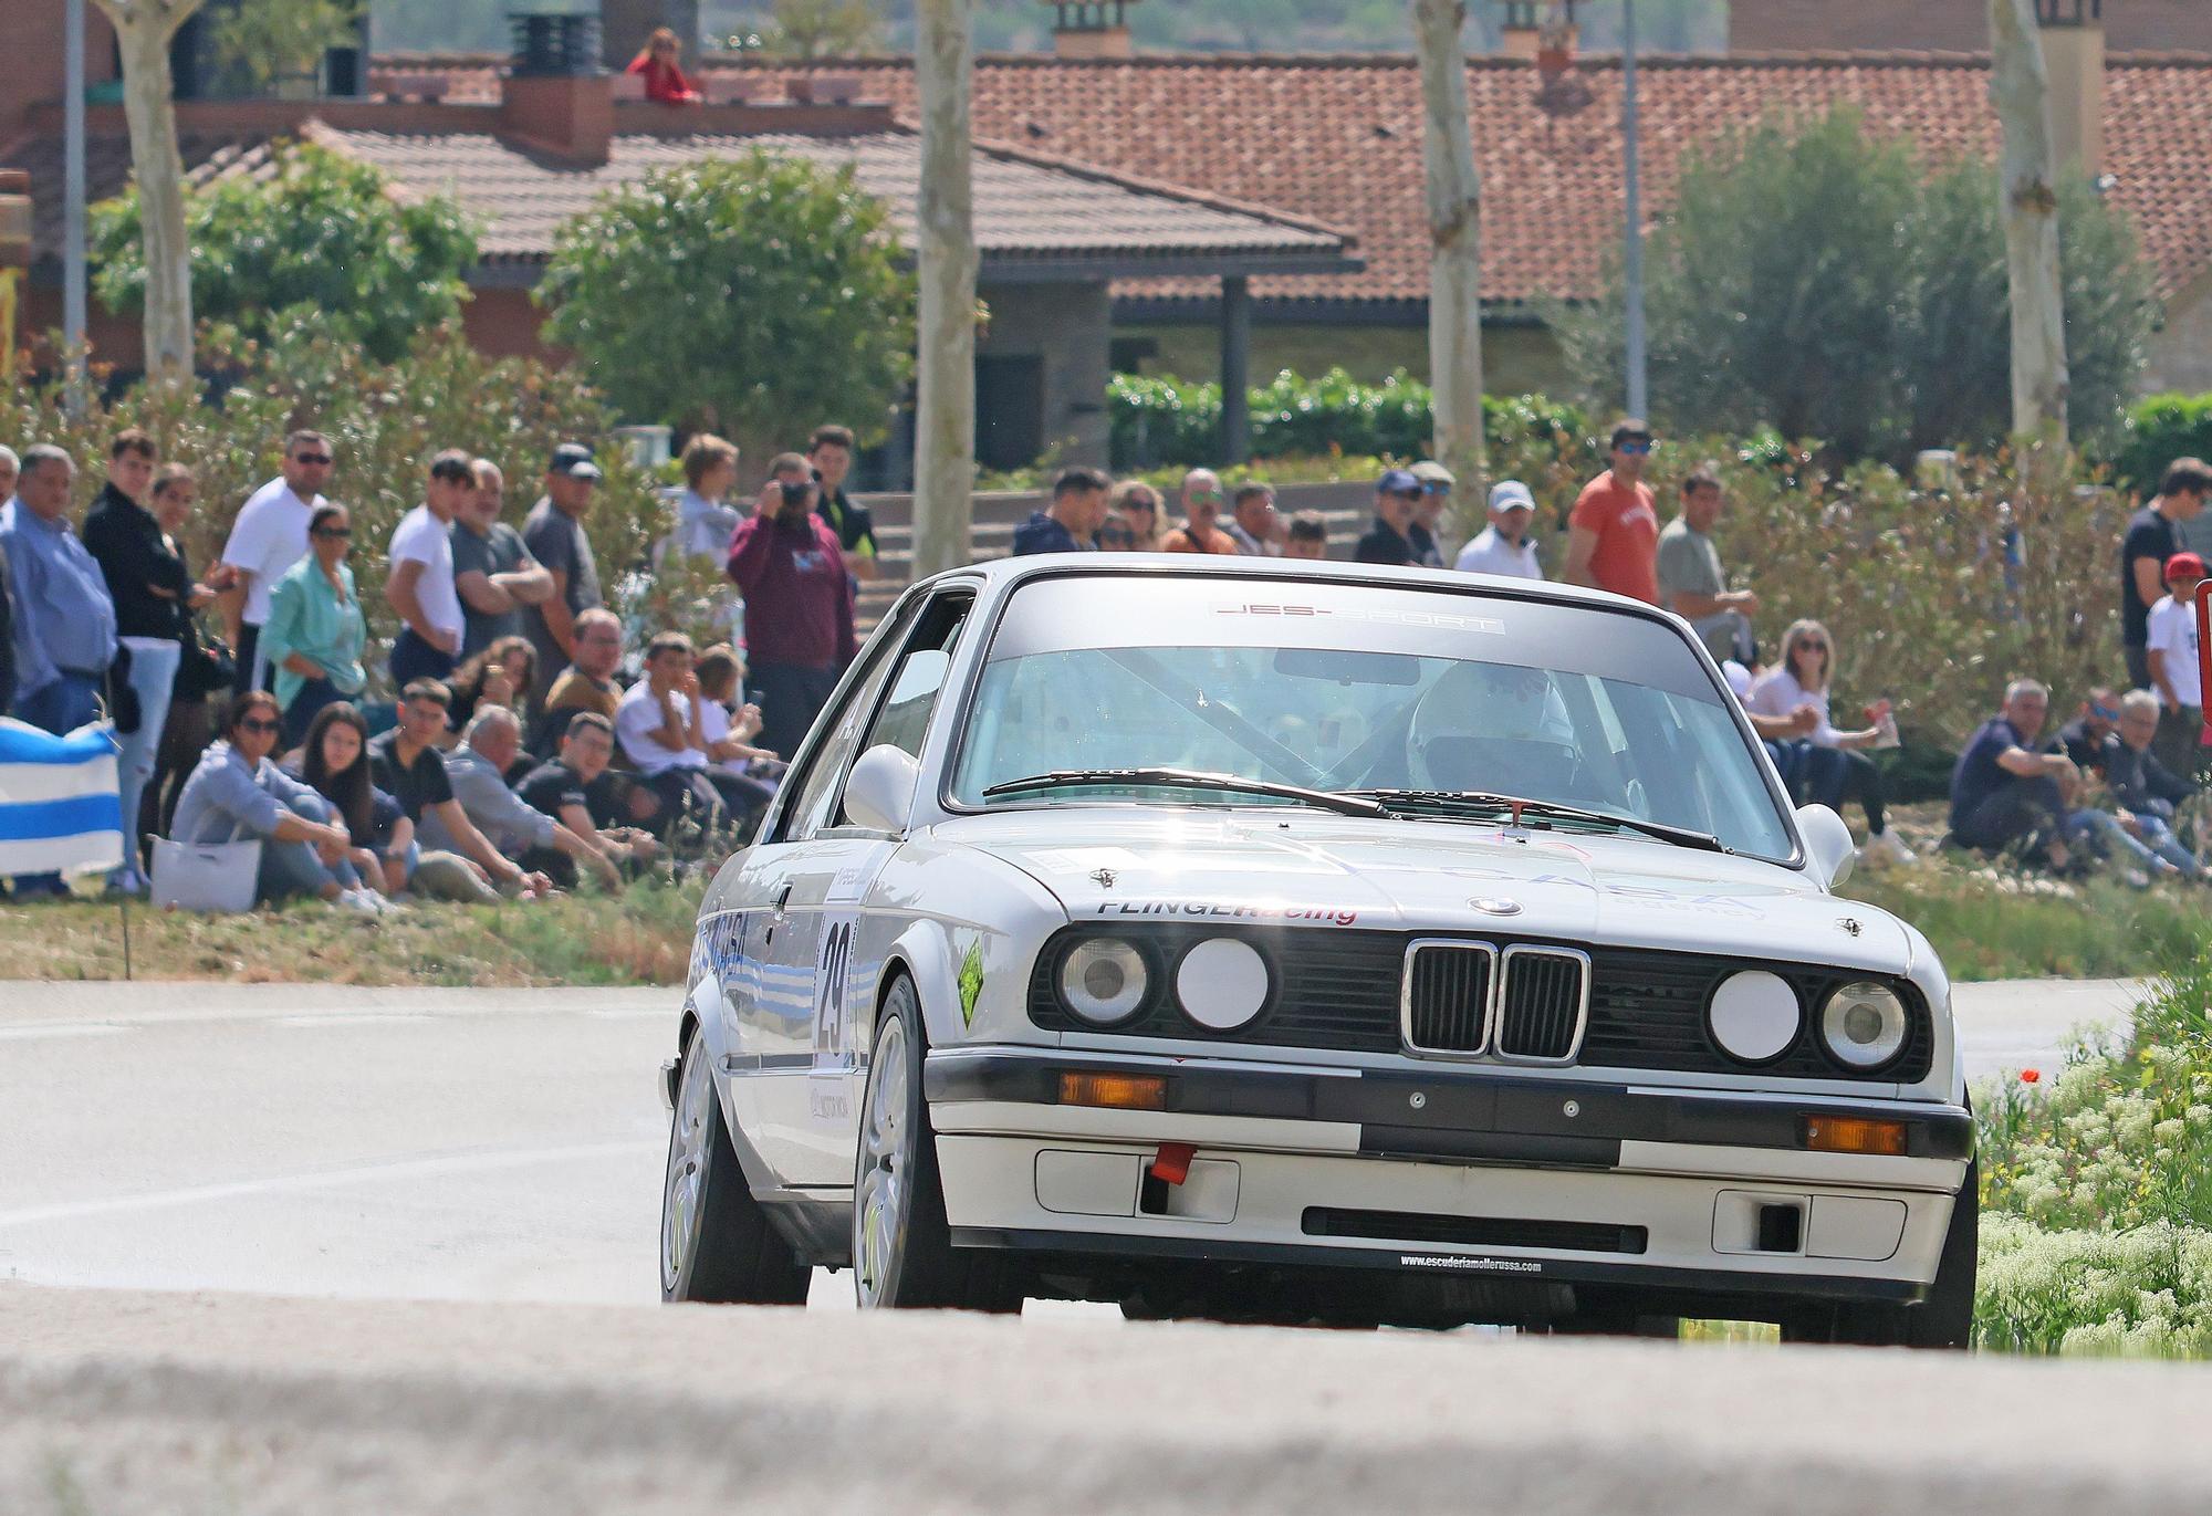
[[[2070,424],[2119,429],[2157,314],[2121,214],[2062,192]],[[1621,389],[1621,278],[1562,309],[1577,380]],[[1770,117],[1683,164],[1646,245],[1655,420],[1774,424],[1847,460],[1989,446],[2011,429],[2011,327],[1997,181],[1986,161],[1929,172],[1905,137],[1840,106]]]

